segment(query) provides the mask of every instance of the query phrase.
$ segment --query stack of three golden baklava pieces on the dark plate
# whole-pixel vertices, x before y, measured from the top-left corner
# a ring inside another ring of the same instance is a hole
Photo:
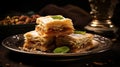
[[[68,46],[69,52],[78,52],[92,46],[92,34],[74,34],[70,18],[61,15],[39,17],[35,30],[24,34],[24,49],[51,52],[60,46]]]

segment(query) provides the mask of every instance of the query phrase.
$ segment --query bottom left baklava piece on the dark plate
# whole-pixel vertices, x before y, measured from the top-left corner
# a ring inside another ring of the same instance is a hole
[[[55,45],[53,43],[54,37],[41,36],[36,31],[30,31],[24,34],[23,49],[40,50],[49,52]]]

